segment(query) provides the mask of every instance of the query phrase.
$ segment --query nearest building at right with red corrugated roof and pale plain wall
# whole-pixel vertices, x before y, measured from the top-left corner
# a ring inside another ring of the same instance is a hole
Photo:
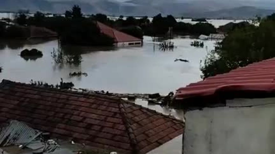
[[[275,153],[274,80],[271,58],[178,89],[184,153]]]

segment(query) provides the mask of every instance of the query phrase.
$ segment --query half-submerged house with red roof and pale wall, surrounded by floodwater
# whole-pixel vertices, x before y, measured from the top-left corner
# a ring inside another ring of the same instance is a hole
[[[140,38],[133,37],[126,33],[120,32],[112,27],[109,27],[103,23],[97,21],[97,26],[102,33],[113,38],[115,46],[117,47],[139,47],[142,46],[143,40]]]

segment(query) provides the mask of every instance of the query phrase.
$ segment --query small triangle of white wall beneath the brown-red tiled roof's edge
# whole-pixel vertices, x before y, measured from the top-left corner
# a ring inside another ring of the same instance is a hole
[[[182,154],[182,136],[177,136],[147,154]]]

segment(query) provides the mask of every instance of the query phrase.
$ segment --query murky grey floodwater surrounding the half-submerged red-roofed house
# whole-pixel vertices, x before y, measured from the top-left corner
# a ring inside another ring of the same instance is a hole
[[[168,94],[179,87],[200,80],[200,60],[214,48],[215,41],[204,41],[204,48],[190,46],[192,39],[175,38],[173,51],[161,51],[152,37],[144,37],[142,47],[97,49],[89,47],[63,47],[66,53],[80,52],[83,62],[79,66],[55,64],[51,52],[58,41],[40,44],[9,42],[0,44],[0,79],[29,83],[31,79],[57,84],[60,78],[73,82],[75,88],[90,88],[113,93]],[[207,48],[206,48],[207,46]],[[19,56],[23,49],[36,48],[43,57],[25,60]],[[174,60],[187,59],[185,63]],[[86,72],[87,77],[70,77],[70,72]]]

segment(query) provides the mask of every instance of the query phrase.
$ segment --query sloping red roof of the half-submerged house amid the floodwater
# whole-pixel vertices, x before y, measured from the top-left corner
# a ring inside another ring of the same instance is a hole
[[[133,37],[126,33],[120,32],[112,27],[109,27],[103,23],[97,21],[97,26],[101,30],[102,33],[108,35],[115,39],[115,42],[132,42],[132,41],[142,41],[139,38]]]

